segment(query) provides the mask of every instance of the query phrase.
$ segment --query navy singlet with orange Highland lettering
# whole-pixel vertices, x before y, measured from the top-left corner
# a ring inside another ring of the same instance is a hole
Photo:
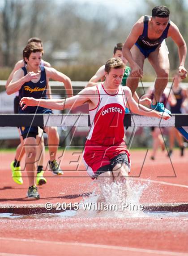
[[[21,67],[24,71],[24,76],[27,74],[26,67]],[[45,68],[40,66],[41,76],[40,80],[37,83],[32,81],[24,83],[19,90],[19,101],[22,97],[33,97],[35,99],[46,99],[46,89],[47,89],[47,78]],[[27,107],[24,110],[20,108],[19,105],[19,113],[35,113],[35,112],[43,112],[44,108],[42,107]]]

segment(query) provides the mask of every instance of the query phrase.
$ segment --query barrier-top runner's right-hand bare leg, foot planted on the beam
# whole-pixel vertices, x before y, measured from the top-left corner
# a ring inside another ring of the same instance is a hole
[[[169,59],[167,45],[162,43],[158,48],[150,53],[148,60],[154,67],[157,78],[155,80],[154,100],[153,105],[160,101],[161,95],[167,86],[169,75]]]

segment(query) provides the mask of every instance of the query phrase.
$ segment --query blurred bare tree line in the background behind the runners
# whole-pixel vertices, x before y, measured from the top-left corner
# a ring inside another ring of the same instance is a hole
[[[124,42],[137,19],[144,14],[150,15],[151,9],[160,4],[167,5],[171,20],[188,41],[187,1],[143,0],[143,3],[144,13],[138,10],[132,17],[132,13],[125,10],[122,17],[103,5],[95,6],[90,2],[4,0],[0,8],[0,67],[12,68],[22,58],[27,40],[34,36],[43,40],[44,58],[52,65],[55,64],[53,53],[64,51],[72,54],[72,47],[79,45],[76,57],[72,62],[62,64],[62,68],[66,65],[82,65],[85,68],[88,65],[100,66],[112,56],[114,45]],[[174,70],[179,66],[177,47],[171,39],[167,39],[167,45],[171,69]],[[153,72],[147,63],[146,70]]]

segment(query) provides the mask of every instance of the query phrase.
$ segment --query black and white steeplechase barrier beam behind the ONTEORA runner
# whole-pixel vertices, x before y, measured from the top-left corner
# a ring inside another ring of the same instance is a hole
[[[90,126],[89,114],[0,114],[0,126]],[[127,114],[124,126],[188,126],[188,114],[172,114],[168,120]]]

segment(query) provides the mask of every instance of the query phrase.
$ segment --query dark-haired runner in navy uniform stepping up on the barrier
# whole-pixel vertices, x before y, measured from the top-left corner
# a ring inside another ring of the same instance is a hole
[[[170,68],[165,38],[171,37],[178,46],[178,72],[182,79],[187,76],[187,70],[184,67],[187,53],[186,43],[178,27],[169,20],[169,15],[170,11],[166,6],[154,7],[151,17],[142,16],[134,24],[122,49],[124,57],[128,60],[132,70],[126,83],[131,89],[132,95],[137,89],[140,77],[143,76],[145,58],[148,58],[157,74],[151,108],[159,112],[165,111],[168,113],[170,111],[164,108],[164,105],[160,102],[160,97],[167,86]]]

